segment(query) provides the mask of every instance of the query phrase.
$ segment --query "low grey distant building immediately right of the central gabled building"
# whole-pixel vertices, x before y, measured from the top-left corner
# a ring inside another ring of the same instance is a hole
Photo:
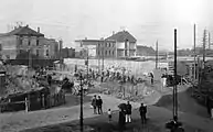
[[[137,45],[137,56],[153,56],[156,55],[156,51],[152,47]]]

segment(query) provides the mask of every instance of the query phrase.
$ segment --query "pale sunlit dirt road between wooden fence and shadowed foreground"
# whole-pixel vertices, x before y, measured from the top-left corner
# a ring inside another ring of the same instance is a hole
[[[111,110],[118,110],[117,106],[121,102],[126,102],[124,100],[115,99],[105,95],[102,95],[102,98],[104,100],[104,111],[107,111],[109,108]],[[138,108],[139,103],[132,103],[132,107]],[[94,114],[93,109],[90,109],[90,103],[88,102],[84,105],[84,118],[90,117],[94,117]],[[0,132],[18,132],[28,128],[55,124],[77,119],[79,119],[79,106],[32,111],[29,113],[25,113],[23,111],[1,113]]]

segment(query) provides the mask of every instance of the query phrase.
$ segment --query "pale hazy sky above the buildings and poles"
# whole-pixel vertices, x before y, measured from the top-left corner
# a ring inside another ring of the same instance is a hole
[[[213,33],[213,0],[0,0],[0,33],[15,22],[40,26],[46,37],[62,38],[74,47],[79,38],[108,37],[113,32],[129,31],[137,43],[173,50],[173,31],[178,47],[196,44],[203,30]],[[212,35],[213,36],[213,35]]]

